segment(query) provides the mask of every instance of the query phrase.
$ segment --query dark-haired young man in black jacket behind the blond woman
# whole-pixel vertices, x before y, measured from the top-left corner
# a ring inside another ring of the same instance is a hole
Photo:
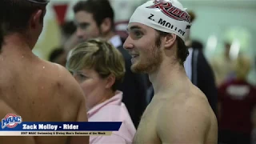
[[[144,75],[134,74],[130,70],[130,55],[123,49],[124,40],[114,32],[114,10],[108,0],[87,0],[74,6],[77,37],[84,41],[88,38],[102,38],[113,44],[125,58],[126,74],[118,90],[123,92],[122,102],[127,106],[134,126],[146,108],[146,86]]]

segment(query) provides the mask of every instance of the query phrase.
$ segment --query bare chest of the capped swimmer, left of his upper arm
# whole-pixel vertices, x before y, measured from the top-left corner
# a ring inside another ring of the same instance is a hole
[[[137,133],[134,136],[134,143],[158,144],[156,124],[158,121],[158,105],[149,105],[142,115]]]

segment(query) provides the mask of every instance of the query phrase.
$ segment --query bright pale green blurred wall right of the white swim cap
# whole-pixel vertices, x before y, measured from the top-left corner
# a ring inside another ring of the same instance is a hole
[[[250,56],[254,67],[250,82],[256,84],[256,1],[255,0],[181,0],[197,18],[191,27],[191,38],[206,46],[210,60],[223,52],[224,42],[237,42],[240,50]]]

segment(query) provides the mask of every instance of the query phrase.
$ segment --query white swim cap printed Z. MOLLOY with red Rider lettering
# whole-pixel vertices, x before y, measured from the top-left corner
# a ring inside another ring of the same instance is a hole
[[[178,0],[150,0],[138,6],[130,22],[178,35],[185,42],[190,35],[190,15]]]

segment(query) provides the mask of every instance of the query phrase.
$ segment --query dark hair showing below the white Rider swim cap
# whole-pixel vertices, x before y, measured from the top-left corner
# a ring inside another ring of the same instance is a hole
[[[158,32],[158,38],[156,39],[156,46],[161,45],[161,38],[165,37],[167,34],[166,32],[156,30]],[[177,46],[177,58],[179,60],[179,63],[183,66],[184,62],[186,61],[186,57],[189,55],[189,51],[187,46],[185,45],[185,42],[182,40],[182,38],[176,37],[176,42],[178,44]]]

